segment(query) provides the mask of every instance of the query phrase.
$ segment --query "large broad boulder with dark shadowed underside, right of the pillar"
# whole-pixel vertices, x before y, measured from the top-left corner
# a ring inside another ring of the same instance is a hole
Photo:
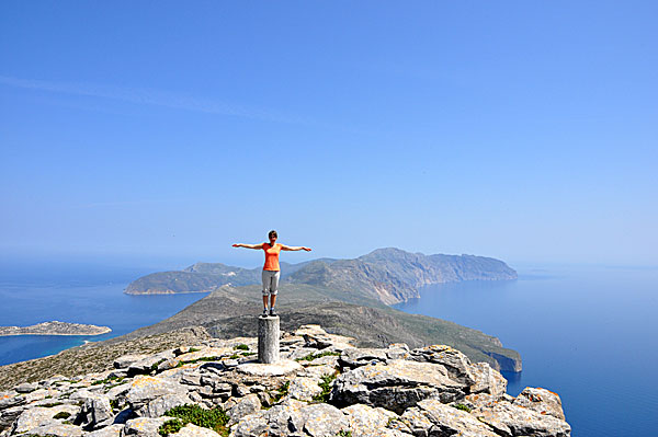
[[[444,403],[463,399],[463,389],[465,386],[451,380],[441,365],[395,359],[340,375],[329,399],[337,405],[364,403],[401,414],[424,399]]]

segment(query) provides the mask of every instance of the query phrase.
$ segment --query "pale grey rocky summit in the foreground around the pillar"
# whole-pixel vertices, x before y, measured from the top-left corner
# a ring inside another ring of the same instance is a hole
[[[257,338],[116,358],[114,369],[0,393],[0,437],[570,436],[556,393],[517,398],[450,346],[354,347],[319,325],[282,333],[284,376],[245,371]]]

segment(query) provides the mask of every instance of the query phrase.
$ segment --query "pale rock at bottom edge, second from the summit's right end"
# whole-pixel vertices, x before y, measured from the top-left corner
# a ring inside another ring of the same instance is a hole
[[[408,409],[400,419],[415,436],[498,437],[487,425],[465,411],[426,400]]]

